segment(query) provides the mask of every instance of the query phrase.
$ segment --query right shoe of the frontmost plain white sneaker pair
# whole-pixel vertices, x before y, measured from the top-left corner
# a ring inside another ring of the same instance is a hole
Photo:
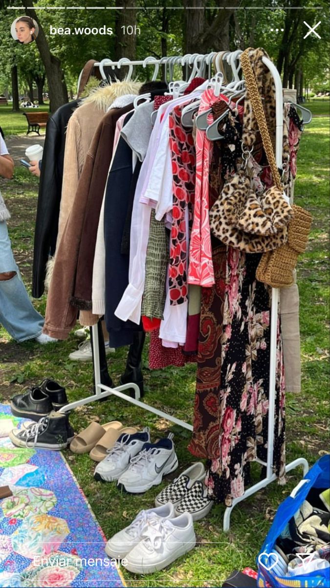
[[[160,519],[144,527],[142,540],[126,556],[125,567],[135,574],[158,572],[195,545],[194,523],[189,513],[176,519]]]

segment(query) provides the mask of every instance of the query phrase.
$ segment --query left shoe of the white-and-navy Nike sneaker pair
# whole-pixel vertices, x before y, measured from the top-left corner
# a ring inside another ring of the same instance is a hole
[[[142,433],[120,435],[115,445],[107,450],[105,459],[97,464],[95,479],[100,482],[113,482],[126,472],[130,459],[141,451],[144,443],[150,443],[149,430],[149,427],[145,427]]]

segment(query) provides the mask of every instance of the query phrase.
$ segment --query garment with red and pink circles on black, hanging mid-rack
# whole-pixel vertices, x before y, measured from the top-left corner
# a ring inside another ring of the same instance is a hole
[[[170,150],[173,172],[173,209],[170,238],[169,292],[171,305],[188,299],[187,288],[187,209],[189,228],[193,220],[196,181],[196,152],[192,131],[181,125],[182,106],[169,116]]]

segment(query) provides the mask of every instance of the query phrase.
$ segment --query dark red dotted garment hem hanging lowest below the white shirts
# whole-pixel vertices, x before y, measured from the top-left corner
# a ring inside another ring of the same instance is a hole
[[[186,363],[194,362],[197,362],[197,355],[185,355],[181,346],[176,349],[163,347],[159,329],[150,333],[149,369],[163,369],[168,366],[182,368]]]

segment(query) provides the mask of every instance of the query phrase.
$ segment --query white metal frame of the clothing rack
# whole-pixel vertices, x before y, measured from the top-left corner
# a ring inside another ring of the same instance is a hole
[[[241,55],[241,51],[236,51],[235,58]],[[105,61],[105,60],[103,60]],[[110,60],[109,60],[110,61]],[[280,74],[278,73],[275,65],[272,61],[266,57],[262,58],[264,64],[270,69],[270,72],[274,78],[275,82],[275,93],[276,93],[276,139],[275,139],[275,148],[276,148],[276,163],[278,168],[282,168],[282,141],[283,141],[283,93],[282,93],[282,82],[280,78]],[[133,62],[134,63],[134,62]],[[108,65],[108,64],[106,64]],[[109,63],[112,65],[112,63]],[[128,61],[127,61],[128,65]],[[274,423],[275,423],[275,380],[276,380],[276,350],[277,350],[277,320],[278,320],[278,289],[272,288],[272,299],[271,299],[271,309],[274,312],[271,312],[271,333],[270,333],[270,386],[269,386],[269,408],[268,408],[268,441],[267,441],[267,462],[263,462],[260,459],[256,459],[255,461],[260,463],[262,466],[266,467],[266,476],[263,480],[260,480],[257,484],[250,486],[247,490],[245,490],[244,495],[238,498],[233,499],[233,503],[230,507],[226,507],[224,513],[224,520],[223,520],[223,529],[224,531],[228,531],[230,529],[230,516],[233,508],[243,500],[247,499],[249,496],[252,496],[258,490],[261,490],[265,486],[268,486],[271,482],[276,480],[277,476],[274,473],[273,467],[273,457],[274,457]],[[76,402],[71,402],[69,405],[64,406],[60,409],[60,412],[68,412],[68,410],[75,409],[77,406],[82,406],[90,402],[94,402],[95,400],[100,400],[106,398],[107,396],[117,396],[122,400],[126,400],[126,402],[130,402],[135,406],[142,408],[143,410],[147,410],[148,412],[152,412],[157,416],[162,417],[163,419],[169,420],[176,425],[180,425],[184,429],[188,429],[190,431],[193,430],[193,426],[190,423],[186,423],[183,420],[177,419],[173,415],[169,415],[162,410],[158,410],[153,406],[147,405],[144,402],[140,401],[140,390],[139,387],[134,383],[129,383],[123,386],[118,386],[116,388],[112,388],[109,386],[105,386],[101,383],[101,375],[100,375],[100,362],[99,362],[99,338],[97,335],[97,326],[94,325],[92,327],[92,334],[93,334],[93,359],[94,359],[94,375],[95,375],[95,394],[92,396],[88,396],[81,400],[77,400]],[[135,398],[127,396],[123,394],[123,390],[127,389],[134,389]],[[308,462],[304,457],[300,457],[295,459],[293,462],[288,463],[285,466],[285,472],[289,472],[292,469],[295,469],[298,466],[302,466],[304,470],[304,475],[307,474],[309,466]]]

